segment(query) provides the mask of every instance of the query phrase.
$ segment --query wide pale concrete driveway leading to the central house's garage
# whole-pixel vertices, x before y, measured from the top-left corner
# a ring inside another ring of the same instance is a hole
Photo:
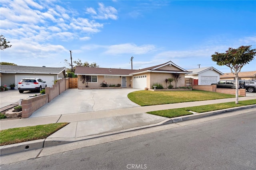
[[[111,109],[139,107],[127,94],[139,89],[68,89],[50,103],[36,110],[30,117],[63,115]]]

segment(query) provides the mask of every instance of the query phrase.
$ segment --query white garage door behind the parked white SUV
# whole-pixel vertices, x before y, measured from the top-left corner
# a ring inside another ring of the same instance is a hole
[[[52,87],[52,84],[54,84],[54,76],[42,76],[42,75],[32,75],[32,74],[23,74],[23,75],[15,75],[15,84],[18,85],[18,82],[22,80],[22,78],[41,78],[46,82],[47,87]],[[18,86],[15,87],[18,89]]]

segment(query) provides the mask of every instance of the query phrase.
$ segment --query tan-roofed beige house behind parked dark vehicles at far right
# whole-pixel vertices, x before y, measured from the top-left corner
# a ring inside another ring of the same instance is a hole
[[[239,80],[256,80],[256,71],[247,71],[238,73]],[[228,72],[220,76],[220,80],[236,80],[233,73]]]

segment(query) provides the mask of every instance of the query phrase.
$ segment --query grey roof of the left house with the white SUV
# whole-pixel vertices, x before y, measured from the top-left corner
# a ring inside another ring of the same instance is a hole
[[[60,74],[65,67],[35,67],[0,65],[0,73]]]

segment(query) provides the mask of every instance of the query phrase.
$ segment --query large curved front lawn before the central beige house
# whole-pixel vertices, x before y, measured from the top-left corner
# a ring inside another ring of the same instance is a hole
[[[159,104],[172,104],[182,102],[195,102],[203,100],[215,100],[235,98],[232,94],[222,94],[201,90],[192,91],[148,91],[141,90],[128,94],[128,98],[140,106],[152,106]]]

